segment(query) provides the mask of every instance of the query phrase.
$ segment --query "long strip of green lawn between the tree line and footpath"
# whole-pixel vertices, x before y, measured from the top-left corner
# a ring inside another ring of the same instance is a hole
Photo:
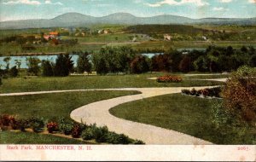
[[[8,78],[3,79],[0,93],[26,92],[38,90],[80,90],[107,88],[143,88],[143,87],[190,87],[223,84],[206,80],[184,79],[181,83],[157,83],[148,77],[158,74],[115,75],[115,76],[70,76],[66,78]]]

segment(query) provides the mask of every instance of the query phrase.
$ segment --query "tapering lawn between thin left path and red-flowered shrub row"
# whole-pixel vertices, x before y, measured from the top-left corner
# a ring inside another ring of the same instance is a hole
[[[134,95],[137,91],[88,91],[42,95],[1,96],[0,113],[20,118],[38,116],[47,119],[69,118],[73,109],[95,101],[122,95]]]

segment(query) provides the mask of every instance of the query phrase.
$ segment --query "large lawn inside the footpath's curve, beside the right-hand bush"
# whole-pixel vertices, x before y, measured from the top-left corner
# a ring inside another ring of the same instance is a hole
[[[213,130],[211,107],[220,101],[172,94],[128,102],[109,111],[121,119],[177,130],[217,144],[252,144],[251,130],[246,130],[247,136],[230,134],[228,129],[226,135],[220,136]]]

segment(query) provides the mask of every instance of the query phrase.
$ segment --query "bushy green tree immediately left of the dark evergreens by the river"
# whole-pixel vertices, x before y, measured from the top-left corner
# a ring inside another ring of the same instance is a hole
[[[40,63],[41,61],[37,57],[26,58],[26,65],[28,67],[27,72],[38,76],[38,72],[40,72]]]

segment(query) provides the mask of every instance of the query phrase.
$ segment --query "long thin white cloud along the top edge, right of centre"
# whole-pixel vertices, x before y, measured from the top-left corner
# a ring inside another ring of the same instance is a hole
[[[181,1],[177,1],[177,0],[163,0],[160,3],[146,3],[146,5],[150,6],[150,7],[160,7],[161,5],[164,4],[168,4],[168,5],[183,5],[183,4],[187,4],[187,3],[194,3],[197,6],[205,6],[205,5],[209,5],[209,3],[205,3],[202,0],[181,0]]]

